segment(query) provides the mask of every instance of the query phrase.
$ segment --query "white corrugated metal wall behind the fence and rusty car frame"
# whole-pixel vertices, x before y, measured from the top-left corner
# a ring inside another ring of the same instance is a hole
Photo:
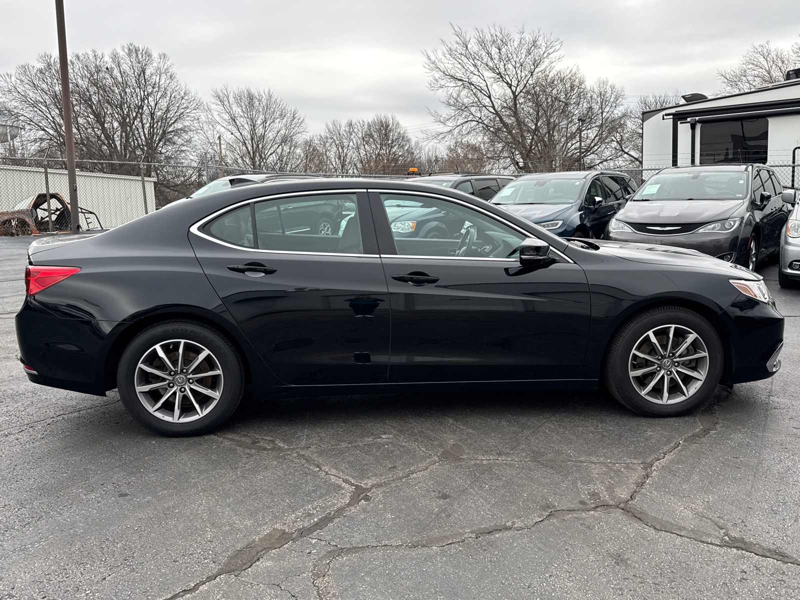
[[[103,227],[116,227],[145,214],[142,179],[78,171],[78,206],[94,210]],[[48,170],[50,192],[70,199],[66,170]],[[147,210],[155,210],[155,178],[145,178]],[[44,169],[0,165],[0,210],[45,191]]]

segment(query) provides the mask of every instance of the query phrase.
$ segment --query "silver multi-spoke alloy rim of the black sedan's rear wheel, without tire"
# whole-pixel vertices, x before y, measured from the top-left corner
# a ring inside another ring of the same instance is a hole
[[[160,342],[147,350],[134,378],[139,402],[164,421],[205,417],[222,395],[222,367],[217,358],[189,340]]]

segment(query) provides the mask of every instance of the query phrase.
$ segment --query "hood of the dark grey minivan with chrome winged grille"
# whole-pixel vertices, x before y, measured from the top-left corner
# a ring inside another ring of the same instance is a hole
[[[730,200],[657,200],[628,202],[617,214],[630,223],[700,223],[729,218],[743,204]]]

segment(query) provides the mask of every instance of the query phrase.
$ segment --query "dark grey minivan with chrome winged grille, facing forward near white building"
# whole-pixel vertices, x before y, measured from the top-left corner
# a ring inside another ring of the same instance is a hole
[[[670,167],[638,189],[608,238],[691,248],[754,270],[778,253],[790,210],[782,190],[760,164]]]

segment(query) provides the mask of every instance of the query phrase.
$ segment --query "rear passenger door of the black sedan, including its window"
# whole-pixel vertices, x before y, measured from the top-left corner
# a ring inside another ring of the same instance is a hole
[[[349,213],[342,234],[321,235],[319,207],[334,203]],[[388,290],[366,193],[245,202],[193,226],[190,241],[226,310],[283,382],[386,381]]]

